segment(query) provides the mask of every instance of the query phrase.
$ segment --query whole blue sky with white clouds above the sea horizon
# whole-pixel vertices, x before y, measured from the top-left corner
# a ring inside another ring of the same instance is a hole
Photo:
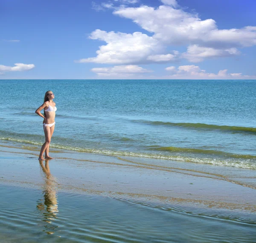
[[[0,79],[256,79],[255,0],[0,0]]]

